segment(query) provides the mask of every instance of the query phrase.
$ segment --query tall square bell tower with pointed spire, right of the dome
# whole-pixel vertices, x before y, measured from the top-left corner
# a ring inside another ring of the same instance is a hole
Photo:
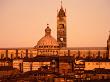
[[[57,13],[57,42],[60,48],[67,47],[67,37],[66,37],[66,9],[63,10],[62,1],[61,8]]]

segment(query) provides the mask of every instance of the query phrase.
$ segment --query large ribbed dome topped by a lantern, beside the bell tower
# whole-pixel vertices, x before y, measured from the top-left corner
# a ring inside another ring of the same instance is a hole
[[[45,29],[45,36],[42,37],[35,48],[58,48],[59,44],[55,38],[51,36],[51,29],[47,24],[47,28]]]

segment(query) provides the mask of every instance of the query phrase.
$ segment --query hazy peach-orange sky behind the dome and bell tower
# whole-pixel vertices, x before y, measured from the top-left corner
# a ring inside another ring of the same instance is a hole
[[[47,23],[57,33],[60,0],[0,0],[0,48],[34,47]],[[63,0],[68,47],[106,47],[110,0]]]

